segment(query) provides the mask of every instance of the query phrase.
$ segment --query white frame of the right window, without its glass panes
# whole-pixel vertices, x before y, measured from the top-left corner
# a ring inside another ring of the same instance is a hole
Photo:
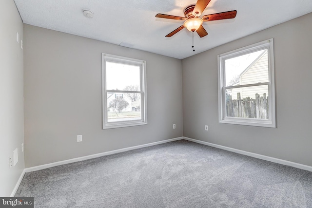
[[[255,119],[255,118],[238,118],[226,116],[226,87],[225,82],[225,60],[233,57],[242,56],[253,53],[255,51],[267,49],[268,50],[268,68],[269,81],[260,84],[240,85],[239,87],[251,87],[259,85],[268,85],[269,88],[269,119]],[[274,52],[273,52],[273,38],[246,46],[234,51],[230,51],[218,56],[218,102],[219,102],[219,123],[239,124],[248,126],[260,126],[276,128],[275,125],[275,82],[274,82]]]

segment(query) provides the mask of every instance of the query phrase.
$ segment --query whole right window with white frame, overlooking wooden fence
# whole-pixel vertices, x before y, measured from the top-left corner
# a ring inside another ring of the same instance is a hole
[[[219,123],[275,128],[273,39],[218,56]]]

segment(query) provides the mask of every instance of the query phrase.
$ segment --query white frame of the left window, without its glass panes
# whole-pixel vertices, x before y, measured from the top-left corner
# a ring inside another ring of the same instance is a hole
[[[106,89],[106,61],[128,64],[140,67],[140,91],[107,90]],[[107,93],[139,93],[141,95],[141,119],[108,122]],[[147,97],[146,97],[146,61],[128,57],[120,57],[102,53],[102,111],[103,129],[130,127],[147,124]]]

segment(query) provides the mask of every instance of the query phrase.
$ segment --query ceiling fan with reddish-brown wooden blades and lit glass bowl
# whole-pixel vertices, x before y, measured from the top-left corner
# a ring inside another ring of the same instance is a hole
[[[200,38],[207,36],[208,33],[205,30],[205,28],[202,26],[202,23],[204,21],[214,21],[214,20],[220,20],[220,19],[233,19],[236,16],[237,11],[228,11],[228,12],[221,12],[211,15],[204,15],[200,18],[202,15],[202,12],[207,7],[210,0],[197,0],[196,4],[192,4],[190,6],[187,6],[184,9],[184,16],[185,17],[178,17],[173,15],[164,15],[164,14],[157,14],[156,18],[165,18],[165,19],[176,19],[176,20],[183,20],[184,23],[182,26],[176,28],[176,30],[172,31],[166,37],[172,37],[177,32],[182,30],[184,27],[186,27],[191,32],[197,32]]]

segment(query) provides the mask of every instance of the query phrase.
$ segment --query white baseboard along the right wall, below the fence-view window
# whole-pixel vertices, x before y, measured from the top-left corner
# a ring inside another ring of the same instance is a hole
[[[191,141],[191,142],[196,142],[196,143],[199,143],[199,144],[215,147],[215,148],[218,148],[218,149],[222,149],[222,150],[226,150],[226,151],[233,151],[233,152],[236,152],[236,153],[239,153],[239,154],[244,154],[244,155],[255,157],[255,158],[258,158],[258,159],[262,159],[262,160],[267,160],[267,161],[270,161],[270,162],[273,162],[273,163],[278,163],[278,164],[282,164],[282,165],[286,165],[286,166],[292,166],[294,168],[298,168],[298,169],[302,169],[302,170],[312,171],[312,167],[311,166],[303,165],[303,164],[300,164],[300,163],[294,163],[294,162],[291,162],[291,161],[282,160],[282,159],[278,159],[278,158],[274,158],[274,157],[269,157],[269,156],[265,156],[265,155],[262,155],[262,154],[256,154],[256,153],[249,152],[249,151],[237,150],[237,149],[234,149],[234,148],[225,147],[225,146],[222,146],[222,145],[216,145],[216,144],[213,144],[213,143],[204,142],[204,141],[200,141],[200,140],[192,139],[192,138],[188,138],[188,137],[183,137],[183,139]]]

